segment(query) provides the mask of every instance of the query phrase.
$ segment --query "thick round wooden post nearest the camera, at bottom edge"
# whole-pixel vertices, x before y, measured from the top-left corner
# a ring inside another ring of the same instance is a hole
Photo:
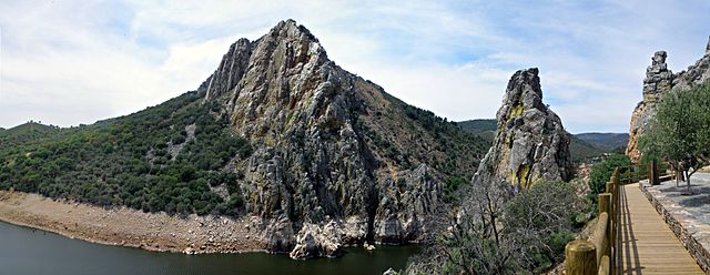
[[[597,275],[597,248],[585,240],[575,240],[565,246],[565,269],[567,274]]]

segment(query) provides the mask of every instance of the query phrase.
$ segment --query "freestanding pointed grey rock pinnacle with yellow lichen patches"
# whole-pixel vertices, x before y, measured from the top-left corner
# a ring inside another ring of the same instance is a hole
[[[501,179],[529,187],[540,179],[570,180],[569,135],[559,116],[542,103],[537,68],[513,74],[496,118],[494,145],[474,182]]]

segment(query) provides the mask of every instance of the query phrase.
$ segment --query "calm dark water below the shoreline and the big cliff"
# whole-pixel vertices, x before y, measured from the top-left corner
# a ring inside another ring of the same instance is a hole
[[[382,274],[416,246],[348,248],[343,257],[292,261],[266,253],[184,255],[92,244],[0,222],[0,274]]]

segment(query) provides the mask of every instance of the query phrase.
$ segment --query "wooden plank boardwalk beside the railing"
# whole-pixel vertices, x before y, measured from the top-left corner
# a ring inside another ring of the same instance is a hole
[[[704,274],[638,183],[619,189],[621,274]]]

